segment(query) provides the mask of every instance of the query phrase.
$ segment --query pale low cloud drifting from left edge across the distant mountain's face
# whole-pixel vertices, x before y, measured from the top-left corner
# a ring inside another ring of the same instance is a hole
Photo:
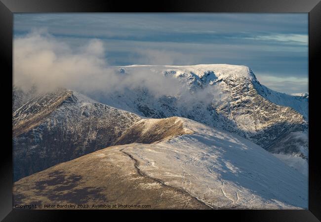
[[[86,95],[97,93],[111,95],[124,90],[146,89],[151,96],[179,96],[185,104],[201,100],[210,103],[204,96],[207,91],[191,95],[189,88],[177,78],[164,77],[149,68],[139,72],[122,74],[108,64],[104,43],[91,39],[79,47],[57,40],[45,31],[33,31],[14,39],[14,85],[29,89],[36,85],[40,92],[64,87]],[[139,51],[142,58],[151,64],[169,64],[179,53],[167,51]]]

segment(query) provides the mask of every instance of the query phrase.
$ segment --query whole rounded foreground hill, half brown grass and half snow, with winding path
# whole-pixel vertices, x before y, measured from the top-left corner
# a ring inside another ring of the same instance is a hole
[[[124,130],[116,144],[20,179],[13,186],[14,203],[50,203],[54,209],[57,204],[151,209],[308,206],[304,175],[240,136],[190,119],[141,119]]]

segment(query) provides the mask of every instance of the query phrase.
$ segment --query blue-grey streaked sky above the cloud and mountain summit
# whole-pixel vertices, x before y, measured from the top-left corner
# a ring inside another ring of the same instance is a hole
[[[99,40],[111,66],[244,65],[273,90],[308,92],[308,13],[15,13],[13,29],[55,48]]]

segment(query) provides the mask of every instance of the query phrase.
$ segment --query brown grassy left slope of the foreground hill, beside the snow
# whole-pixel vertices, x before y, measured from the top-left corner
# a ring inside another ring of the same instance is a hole
[[[146,177],[125,147],[101,149],[25,177],[13,186],[15,204],[151,205],[149,209],[208,209],[186,191]],[[43,209],[43,208],[42,208]]]

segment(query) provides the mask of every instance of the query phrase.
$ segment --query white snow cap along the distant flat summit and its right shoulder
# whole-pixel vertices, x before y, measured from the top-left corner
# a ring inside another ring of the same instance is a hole
[[[234,81],[242,77],[243,80],[250,81],[258,93],[265,99],[276,105],[291,107],[308,119],[308,93],[288,95],[269,89],[261,85],[254,73],[246,66],[229,64],[200,64],[192,66],[131,65],[115,67],[115,69],[122,70],[122,72],[126,73],[147,69],[160,74],[173,74],[176,78],[184,76],[189,78],[191,74],[196,74],[199,78],[202,78],[205,74],[208,74],[208,72],[213,72],[214,78],[207,79],[205,82],[206,85],[213,85],[222,79]],[[222,91],[225,91],[225,89],[222,89]]]

